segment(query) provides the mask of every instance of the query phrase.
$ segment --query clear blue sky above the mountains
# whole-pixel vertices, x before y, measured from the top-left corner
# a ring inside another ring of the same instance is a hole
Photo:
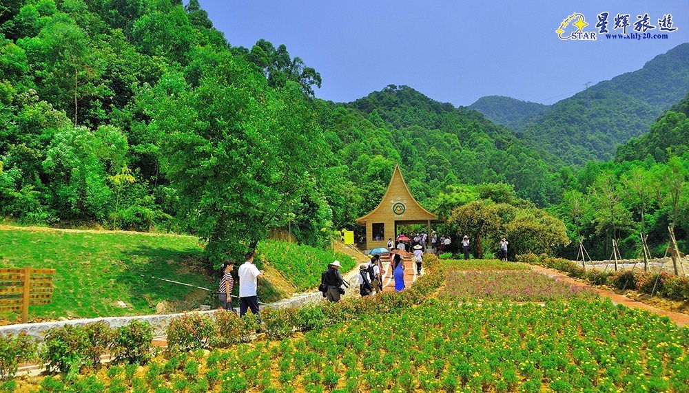
[[[551,104],[689,41],[686,0],[200,3],[232,45],[287,45],[320,72],[316,96],[340,102],[392,83],[454,105],[494,94]],[[560,41],[555,30],[574,12],[590,23],[582,31],[596,31],[600,12],[630,14],[631,23],[648,13],[656,26],[670,13],[677,30],[668,39]]]

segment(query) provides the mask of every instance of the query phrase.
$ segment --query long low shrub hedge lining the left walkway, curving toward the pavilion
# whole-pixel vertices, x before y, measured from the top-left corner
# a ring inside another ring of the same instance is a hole
[[[322,302],[302,308],[265,308],[262,322],[249,313],[239,318],[234,312],[220,310],[212,315],[186,314],[170,321],[167,328],[168,351],[179,356],[198,348],[224,348],[250,341],[254,334],[265,332],[269,339],[283,339],[294,331],[318,330],[334,323],[358,319],[364,314],[400,312],[422,304],[444,282],[447,266],[435,255],[424,261],[429,268],[415,284],[400,293],[384,292],[375,296],[344,299],[338,303]],[[22,361],[43,359],[51,369],[79,372],[97,368],[101,355],[113,354],[116,361],[146,363],[152,352],[153,333],[149,323],[132,321],[121,328],[110,328],[100,321],[83,326],[63,326],[50,330],[44,348],[26,336],[0,340],[0,376],[11,378]]]

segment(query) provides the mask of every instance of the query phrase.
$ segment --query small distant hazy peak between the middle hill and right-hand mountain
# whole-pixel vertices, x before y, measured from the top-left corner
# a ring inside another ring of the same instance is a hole
[[[485,96],[469,105],[469,108],[480,111],[494,123],[520,129],[522,125],[546,113],[550,106],[505,96]]]

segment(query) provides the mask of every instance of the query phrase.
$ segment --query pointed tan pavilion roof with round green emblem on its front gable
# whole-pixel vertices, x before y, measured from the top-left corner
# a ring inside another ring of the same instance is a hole
[[[387,191],[376,209],[371,213],[356,219],[359,224],[376,218],[389,217],[397,221],[428,221],[438,220],[438,216],[424,209],[419,202],[411,195],[407,183],[404,182],[400,166],[395,164],[392,178],[388,184]]]

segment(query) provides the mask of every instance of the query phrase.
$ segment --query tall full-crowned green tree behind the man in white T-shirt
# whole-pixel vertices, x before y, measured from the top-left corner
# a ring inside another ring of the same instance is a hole
[[[167,176],[214,262],[256,246],[312,187],[325,145],[295,83],[270,89],[225,56],[196,88],[163,78],[155,100]]]

